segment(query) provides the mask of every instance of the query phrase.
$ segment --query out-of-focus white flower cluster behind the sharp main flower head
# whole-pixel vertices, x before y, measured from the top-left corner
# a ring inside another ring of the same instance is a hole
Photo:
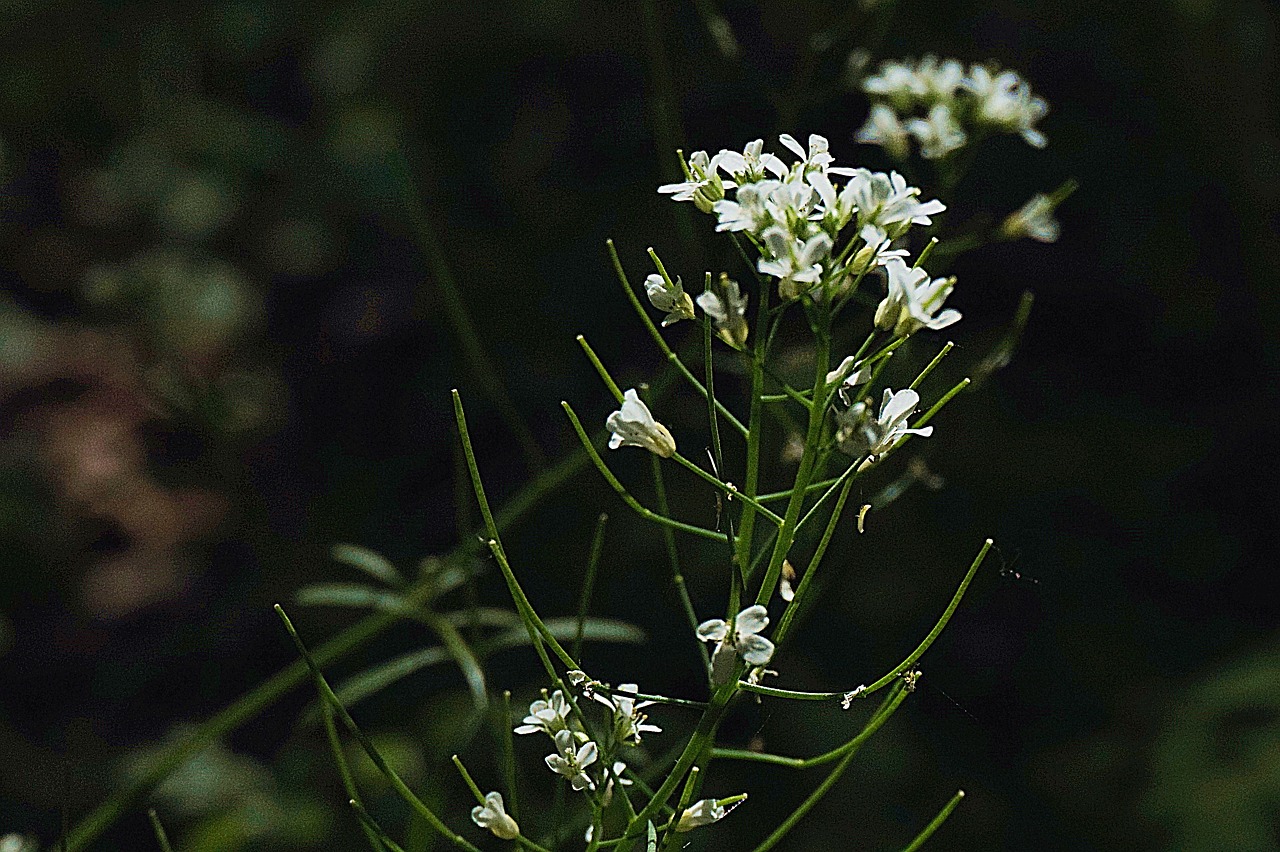
[[[1036,123],[1048,111],[1042,97],[1016,72],[959,60],[924,56],[916,63],[887,61],[863,81],[872,100],[856,139],[879,145],[905,160],[914,138],[920,156],[945,157],[973,136],[1018,133],[1028,145],[1044,147]]]

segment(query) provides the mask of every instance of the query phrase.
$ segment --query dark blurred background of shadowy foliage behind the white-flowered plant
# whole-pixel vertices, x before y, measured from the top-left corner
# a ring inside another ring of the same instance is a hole
[[[736,55],[709,35],[712,10],[6,5],[0,832],[51,843],[60,811],[74,823],[128,755],[292,660],[269,605],[351,578],[334,542],[402,565],[453,548],[474,514],[457,508],[451,388],[495,499],[529,480],[448,321],[449,274],[512,407],[548,458],[564,455],[558,402],[591,423],[611,409],[575,335],[623,386],[659,367],[603,241],[635,281],[648,246],[686,281],[733,269],[709,219],[654,193],[678,175],[677,146],[818,132],[837,160],[887,166],[852,142],[867,104],[841,83],[849,51],[872,43],[873,61],[997,60],[1051,104],[1048,148],[991,142],[954,210],[1080,188],[1056,244],[993,246],[952,270],[965,320],[933,394],[974,370],[1030,289],[1021,345],[911,445],[942,487],[910,489],[861,537],[842,528],[841,569],[780,683],[876,677],[980,541],[997,551],[916,696],[783,847],[900,848],[964,788],[934,848],[1280,849],[1276,10],[727,3]],[[406,215],[397,157],[433,235]],[[918,345],[908,358],[927,359]],[[663,420],[695,434],[700,409],[680,399],[689,411],[672,402]],[[639,455],[611,461],[639,482]],[[602,509],[595,611],[652,642],[595,646],[593,673],[691,695],[660,537],[598,477],[512,532],[517,571],[544,613],[572,613]],[[684,555],[700,611],[718,611],[713,560]],[[480,595],[500,603],[494,573]],[[296,615],[312,638],[348,619]],[[338,668],[425,641],[397,629]],[[527,701],[535,668],[500,655],[490,684]],[[452,751],[490,747],[458,730],[462,695],[433,669],[360,714],[457,825],[463,798],[424,779],[452,784]],[[157,800],[188,848],[356,848],[320,741],[294,728],[302,701],[233,736],[207,791]],[[678,728],[668,714],[654,715]],[[806,755],[854,724],[771,702],[726,733]],[[518,746],[527,798],[547,779]],[[713,848],[754,842],[817,782],[718,771],[717,791],[751,801]],[[147,838],[131,815],[101,848]]]

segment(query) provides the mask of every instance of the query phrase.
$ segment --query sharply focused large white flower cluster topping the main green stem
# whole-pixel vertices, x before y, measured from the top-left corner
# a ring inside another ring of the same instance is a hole
[[[717,230],[749,237],[760,249],[756,269],[777,279],[783,299],[845,292],[872,267],[906,253],[892,249],[892,241],[946,210],[941,201],[920,201],[920,191],[897,173],[833,165],[820,136],[810,136],[808,147],[787,134],[780,141],[799,157],[790,166],[755,139],[741,154],[698,151],[685,165],[686,180],[658,192],[714,214]],[[654,301],[660,310],[669,303],[664,290]],[[698,304],[730,345],[745,343],[746,302],[736,283],[722,280]]]

